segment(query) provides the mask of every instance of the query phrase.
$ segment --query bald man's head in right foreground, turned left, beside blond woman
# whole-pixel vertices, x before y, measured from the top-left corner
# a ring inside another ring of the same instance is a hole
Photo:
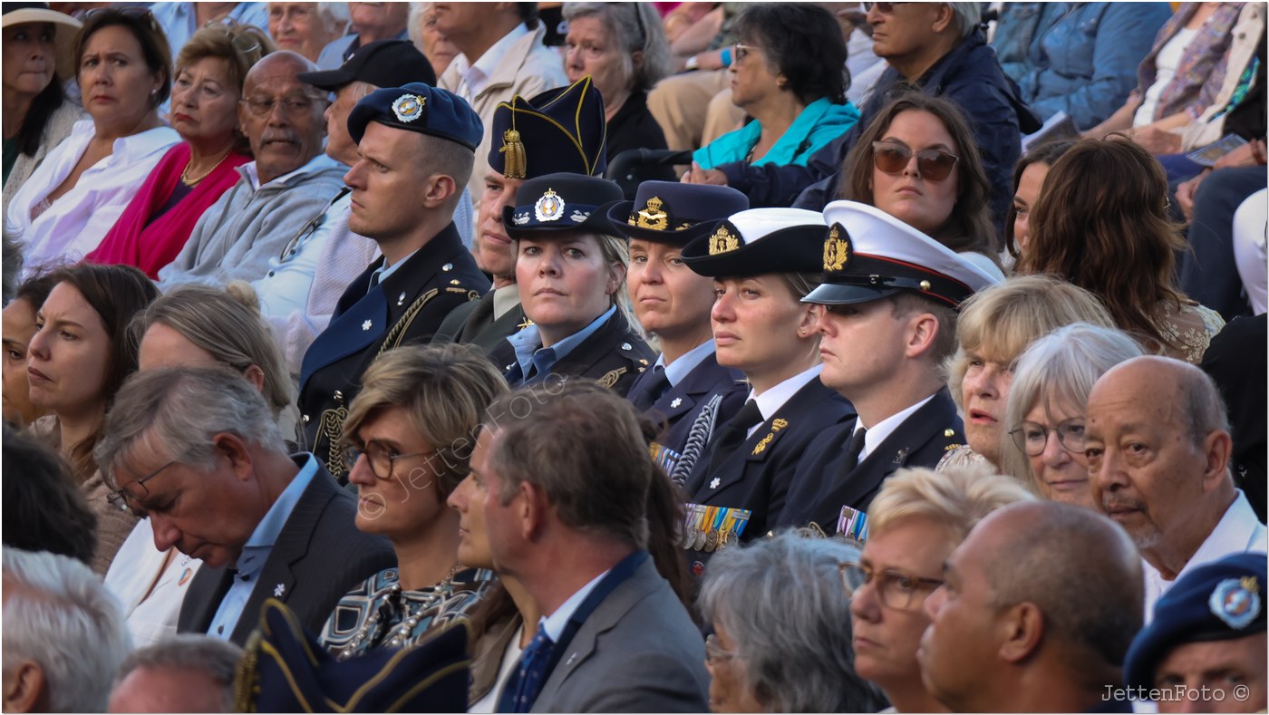
[[[1141,628],[1141,560],[1123,529],[1060,502],[1020,502],[970,531],[925,600],[916,659],[953,712],[1081,712],[1122,692]]]

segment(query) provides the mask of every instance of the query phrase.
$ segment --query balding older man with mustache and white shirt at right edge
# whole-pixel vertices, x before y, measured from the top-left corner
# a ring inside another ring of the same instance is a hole
[[[1265,550],[1265,526],[1233,486],[1230,426],[1206,373],[1171,358],[1136,358],[1101,375],[1085,412],[1093,499],[1146,562],[1147,622],[1189,569]]]

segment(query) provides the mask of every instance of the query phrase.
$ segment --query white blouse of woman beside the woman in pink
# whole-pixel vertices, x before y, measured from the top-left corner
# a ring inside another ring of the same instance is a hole
[[[33,221],[32,209],[70,176],[94,136],[91,119],[76,122],[9,203],[5,223],[25,243],[25,274],[43,264],[77,261],[96,248],[162,155],[180,141],[170,127],[115,139],[110,156],[85,170],[74,189]]]

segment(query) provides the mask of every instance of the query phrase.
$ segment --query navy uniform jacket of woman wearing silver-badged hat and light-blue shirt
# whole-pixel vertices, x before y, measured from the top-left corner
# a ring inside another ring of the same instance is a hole
[[[506,340],[489,354],[506,374],[515,365],[515,349]],[[652,365],[656,351],[634,332],[621,311],[599,326],[581,345],[574,347],[551,368],[553,375],[576,375],[599,380],[626,397],[634,379]],[[519,374],[519,370],[516,370]],[[520,383],[513,384],[516,387]]]

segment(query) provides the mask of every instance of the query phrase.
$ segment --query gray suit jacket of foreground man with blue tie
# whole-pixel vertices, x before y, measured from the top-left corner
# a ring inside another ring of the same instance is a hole
[[[652,559],[569,643],[533,712],[708,712],[700,631]]]

